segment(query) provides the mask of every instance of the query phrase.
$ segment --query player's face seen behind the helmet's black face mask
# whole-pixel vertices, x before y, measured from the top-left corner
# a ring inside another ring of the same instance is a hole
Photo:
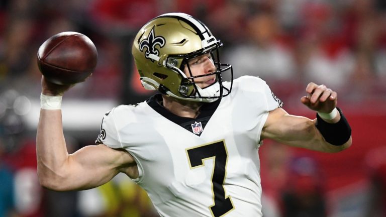
[[[216,66],[213,63],[212,56],[210,53],[192,58],[189,60],[188,64],[191,71],[191,75],[187,66],[185,66],[183,70],[187,77],[205,75],[216,71]],[[213,74],[194,78],[194,81],[199,87],[205,88],[216,82],[216,75]]]

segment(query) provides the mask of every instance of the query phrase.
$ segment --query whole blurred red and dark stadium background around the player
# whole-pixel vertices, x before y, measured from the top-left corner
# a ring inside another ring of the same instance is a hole
[[[260,148],[264,216],[386,216],[386,2],[383,0],[0,0],[0,217],[158,216],[124,176],[80,192],[39,186],[35,134],[39,46],[75,31],[99,52],[86,82],[64,96],[69,152],[92,145],[102,116],[146,99],[131,43],[149,19],[191,14],[221,39],[235,76],[260,76],[294,115],[310,81],[338,92],[353,145],[337,154]],[[224,117],[226,118],[226,117]],[[382,210],[383,209],[383,210]]]

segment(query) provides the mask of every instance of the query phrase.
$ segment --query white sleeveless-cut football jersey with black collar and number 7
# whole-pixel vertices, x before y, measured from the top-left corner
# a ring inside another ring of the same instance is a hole
[[[235,79],[232,92],[205,103],[196,119],[171,114],[159,100],[115,107],[96,143],[135,158],[134,181],[161,216],[262,216],[260,133],[282,105],[265,81]]]

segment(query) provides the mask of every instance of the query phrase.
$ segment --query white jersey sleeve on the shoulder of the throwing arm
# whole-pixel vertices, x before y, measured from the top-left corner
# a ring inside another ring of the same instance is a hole
[[[104,144],[110,148],[122,148],[114,120],[114,109],[106,113],[103,117],[101,133],[98,135],[98,138],[96,138],[95,144]]]

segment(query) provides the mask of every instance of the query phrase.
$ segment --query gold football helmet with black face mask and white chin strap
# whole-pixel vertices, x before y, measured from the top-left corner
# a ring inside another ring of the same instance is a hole
[[[211,102],[231,92],[233,70],[219,61],[222,46],[199,20],[183,13],[168,13],[149,21],[134,39],[132,54],[142,85],[179,99]],[[188,61],[210,53],[216,71],[192,76]],[[183,72],[187,67],[190,76]],[[230,70],[231,81],[223,85],[222,73]],[[216,75],[214,84],[200,88],[194,78]]]

